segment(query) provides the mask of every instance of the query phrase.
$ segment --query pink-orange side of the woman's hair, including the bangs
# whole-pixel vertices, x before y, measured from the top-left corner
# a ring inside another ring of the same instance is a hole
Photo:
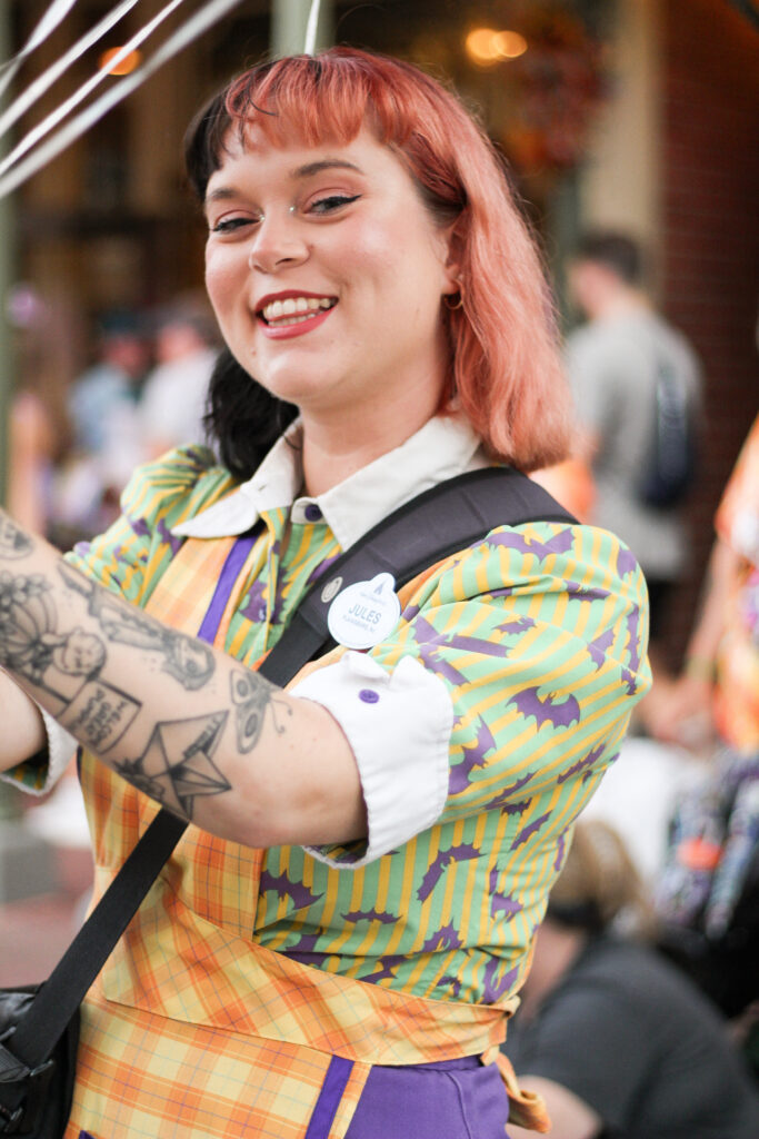
[[[490,453],[522,470],[564,458],[572,413],[550,292],[500,158],[459,99],[411,64],[353,48],[262,64],[223,103],[241,134],[347,142],[368,123],[430,213],[453,223],[461,308],[446,312],[460,407]],[[220,125],[220,124],[217,124]]]

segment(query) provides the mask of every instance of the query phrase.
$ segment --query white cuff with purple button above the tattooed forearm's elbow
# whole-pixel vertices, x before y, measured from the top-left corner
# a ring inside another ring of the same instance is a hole
[[[290,694],[321,704],[340,724],[353,748],[369,819],[360,858],[331,858],[331,847],[308,846],[310,854],[329,866],[357,869],[437,821],[448,795],[454,719],[438,677],[412,656],[388,673],[363,653],[346,653]]]

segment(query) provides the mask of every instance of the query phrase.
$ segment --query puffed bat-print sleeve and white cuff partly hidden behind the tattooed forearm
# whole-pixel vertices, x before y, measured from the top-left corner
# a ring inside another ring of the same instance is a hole
[[[171,528],[230,489],[207,448],[180,448],[138,469],[122,497],[122,514],[100,536],[66,555],[69,565],[115,593],[142,605],[181,540]],[[146,567],[150,566],[149,583]],[[42,711],[42,710],[41,710]],[[71,761],[75,740],[42,711],[47,748],[6,773],[32,794],[44,794]]]

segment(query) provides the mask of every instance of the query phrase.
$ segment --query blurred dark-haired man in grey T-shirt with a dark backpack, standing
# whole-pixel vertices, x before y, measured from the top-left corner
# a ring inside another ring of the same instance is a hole
[[[626,233],[587,232],[569,264],[568,287],[587,318],[567,339],[567,364],[578,453],[595,483],[591,521],[613,528],[643,568],[657,681],[667,672],[663,617],[687,558],[680,506],[693,475],[700,366],[644,293],[641,249]],[[675,458],[677,469],[669,469]],[[652,690],[647,707],[662,691]]]

